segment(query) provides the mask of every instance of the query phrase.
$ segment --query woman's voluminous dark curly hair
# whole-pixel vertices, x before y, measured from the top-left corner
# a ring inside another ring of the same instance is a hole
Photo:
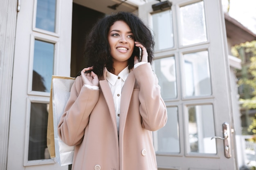
[[[92,27],[92,30],[85,43],[85,58],[87,59],[86,67],[93,66],[93,71],[99,77],[103,75],[103,69],[106,66],[108,71],[113,71],[113,60],[110,55],[110,45],[108,43],[108,32],[110,26],[114,22],[122,20],[130,27],[135,41],[140,42],[146,47],[148,52],[148,62],[152,62],[153,50],[155,42],[150,29],[134,14],[129,12],[119,12],[113,15],[108,15],[105,18],[101,18]],[[128,60],[128,68],[131,69],[134,66],[134,56],[136,49],[132,53],[132,56]]]

